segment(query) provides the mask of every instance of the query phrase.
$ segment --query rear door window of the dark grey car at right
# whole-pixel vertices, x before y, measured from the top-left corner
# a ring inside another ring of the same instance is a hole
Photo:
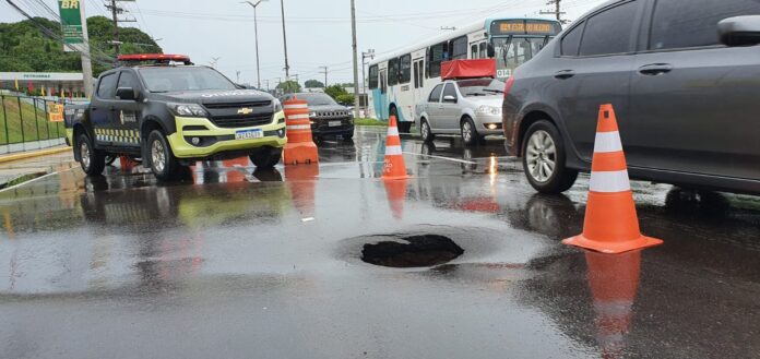
[[[585,22],[581,56],[625,53],[631,49],[639,1],[607,9]]]

